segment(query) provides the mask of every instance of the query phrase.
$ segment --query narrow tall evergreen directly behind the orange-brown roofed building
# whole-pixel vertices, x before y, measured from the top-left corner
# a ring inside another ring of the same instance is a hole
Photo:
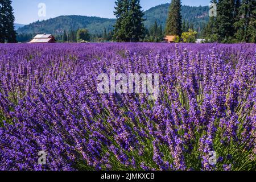
[[[180,0],[172,0],[166,22],[166,35],[181,35],[181,3]]]

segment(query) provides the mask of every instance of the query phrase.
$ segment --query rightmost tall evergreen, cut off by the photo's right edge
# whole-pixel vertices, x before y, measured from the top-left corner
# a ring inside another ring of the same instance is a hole
[[[238,41],[256,43],[256,1],[242,0],[235,27]]]

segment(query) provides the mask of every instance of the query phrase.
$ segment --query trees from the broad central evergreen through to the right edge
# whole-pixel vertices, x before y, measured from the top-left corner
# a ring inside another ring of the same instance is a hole
[[[217,6],[217,16],[202,30],[206,42],[255,43],[256,42],[256,1],[255,0],[212,0]],[[114,40],[118,42],[159,42],[164,35],[176,35],[179,41],[195,42],[197,32],[193,24],[181,22],[181,2],[172,0],[165,30],[155,24],[147,30],[143,27],[143,11],[138,0],[115,2],[117,23]],[[133,20],[133,17],[136,17]],[[137,31],[134,31],[137,30]],[[200,32],[200,31],[199,31]]]

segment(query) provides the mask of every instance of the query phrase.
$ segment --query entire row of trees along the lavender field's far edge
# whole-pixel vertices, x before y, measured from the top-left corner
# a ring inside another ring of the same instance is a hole
[[[89,34],[79,28],[63,31],[57,35],[58,42],[162,42],[165,35],[175,35],[175,42],[195,42],[205,38],[205,42],[255,43],[256,39],[256,1],[255,0],[212,0],[217,5],[217,15],[209,19],[203,30],[194,30],[193,22],[182,21],[181,2],[172,0],[168,11],[166,27],[152,24],[144,27],[144,12],[139,0],[116,0],[114,15],[117,20],[114,30]],[[14,15],[11,0],[0,0],[0,42],[15,43]],[[109,30],[109,29],[108,29]],[[18,35],[19,42],[32,39],[32,34]]]

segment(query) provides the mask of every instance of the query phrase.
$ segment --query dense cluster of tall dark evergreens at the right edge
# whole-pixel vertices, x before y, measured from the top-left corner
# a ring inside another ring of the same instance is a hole
[[[217,16],[210,17],[204,36],[208,42],[256,43],[255,0],[213,0]]]

